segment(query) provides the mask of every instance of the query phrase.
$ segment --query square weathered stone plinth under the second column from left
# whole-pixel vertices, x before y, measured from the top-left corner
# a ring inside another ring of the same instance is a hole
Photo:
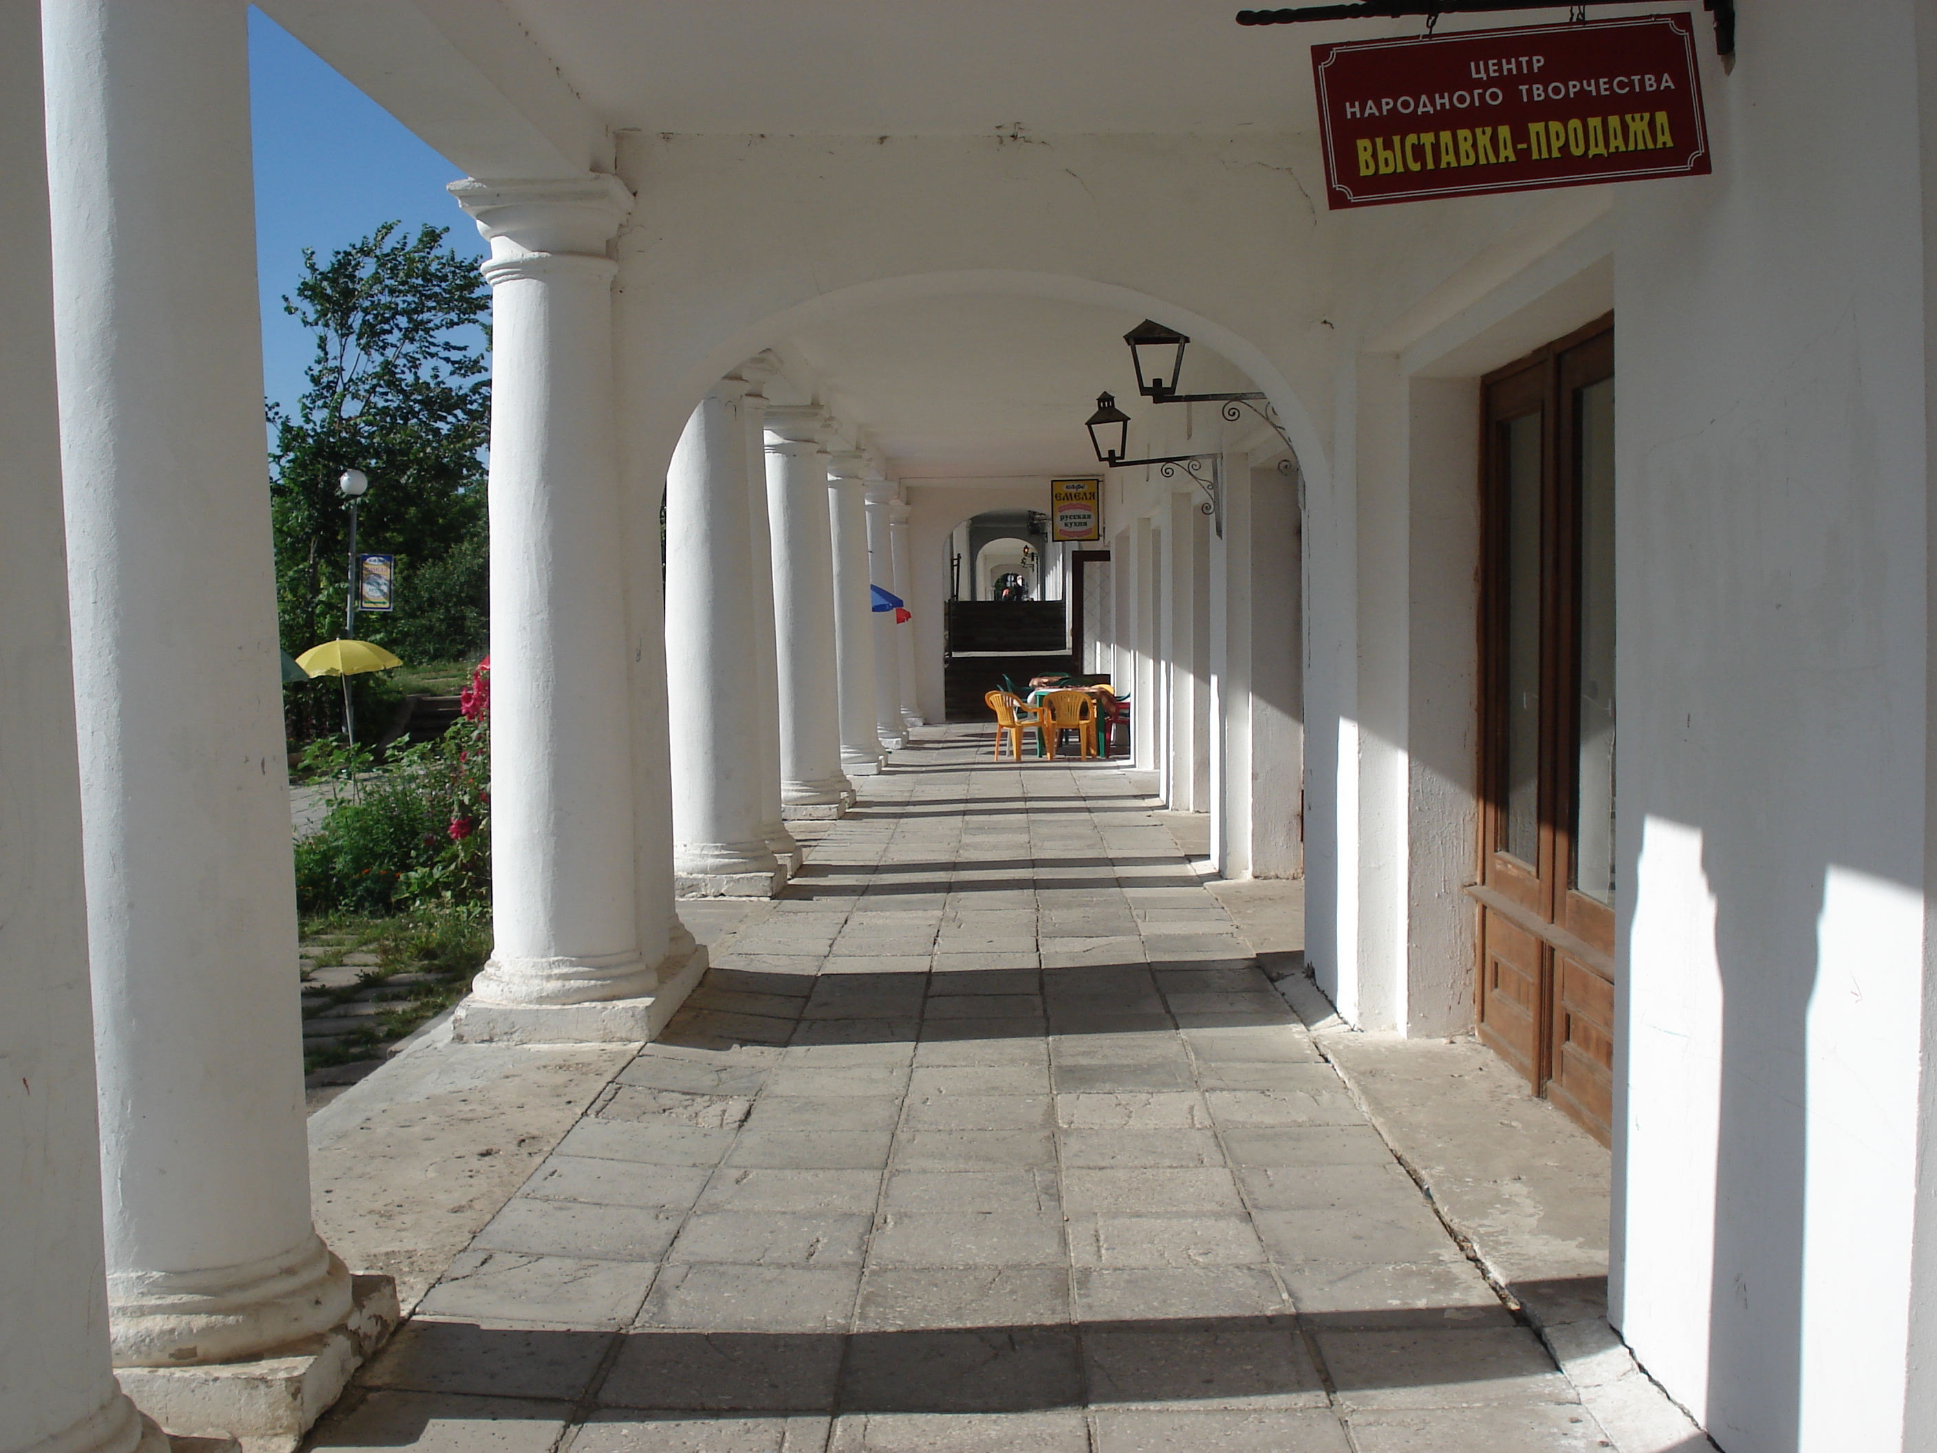
[[[354,1277],[349,1317],[275,1348],[273,1356],[120,1368],[118,1376],[136,1407],[174,1438],[176,1453],[188,1453],[184,1445],[192,1439],[196,1453],[215,1453],[223,1447],[215,1439],[234,1439],[242,1453],[294,1453],[397,1319],[397,1284],[389,1277]]]

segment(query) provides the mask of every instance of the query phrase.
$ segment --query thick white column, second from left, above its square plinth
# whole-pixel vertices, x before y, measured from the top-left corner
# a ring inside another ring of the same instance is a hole
[[[310,1224],[246,19],[43,31],[108,1302],[114,1360],[170,1370],[351,1314]]]

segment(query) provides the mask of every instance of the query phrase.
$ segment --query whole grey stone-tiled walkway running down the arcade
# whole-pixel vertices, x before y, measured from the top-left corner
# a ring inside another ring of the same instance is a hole
[[[1102,765],[897,757],[316,1447],[1612,1447]]]

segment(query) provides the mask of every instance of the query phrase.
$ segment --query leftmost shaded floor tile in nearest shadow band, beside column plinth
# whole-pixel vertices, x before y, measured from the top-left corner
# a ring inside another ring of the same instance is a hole
[[[411,1317],[356,1376],[362,1387],[573,1403],[618,1333]]]

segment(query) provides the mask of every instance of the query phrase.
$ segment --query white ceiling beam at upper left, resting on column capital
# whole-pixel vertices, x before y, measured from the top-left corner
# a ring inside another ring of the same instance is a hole
[[[467,176],[612,170],[604,122],[498,0],[258,4]]]

